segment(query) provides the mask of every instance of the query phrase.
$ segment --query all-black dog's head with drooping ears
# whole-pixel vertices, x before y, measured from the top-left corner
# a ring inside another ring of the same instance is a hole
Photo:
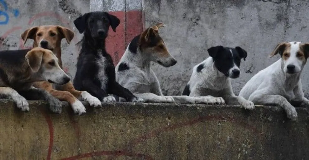
[[[95,39],[105,39],[108,34],[109,26],[116,32],[116,27],[120,20],[107,12],[89,12],[74,20],[74,25],[79,33],[85,32]]]

